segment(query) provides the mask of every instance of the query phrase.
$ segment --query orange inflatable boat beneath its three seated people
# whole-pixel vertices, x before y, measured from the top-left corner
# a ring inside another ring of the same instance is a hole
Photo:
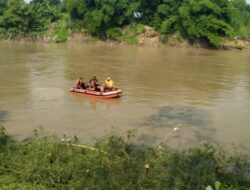
[[[93,91],[93,90],[87,90],[87,89],[78,89],[78,88],[71,88],[71,92],[94,96],[97,98],[119,98],[122,95],[122,91],[120,89],[112,90],[112,91],[105,91],[105,92],[99,92],[99,91]]]

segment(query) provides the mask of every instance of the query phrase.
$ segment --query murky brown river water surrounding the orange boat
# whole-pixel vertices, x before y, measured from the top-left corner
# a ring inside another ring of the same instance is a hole
[[[111,76],[122,98],[69,92],[76,78],[92,75]],[[2,42],[0,124],[17,139],[42,127],[91,143],[136,129],[151,145],[250,150],[250,51]]]

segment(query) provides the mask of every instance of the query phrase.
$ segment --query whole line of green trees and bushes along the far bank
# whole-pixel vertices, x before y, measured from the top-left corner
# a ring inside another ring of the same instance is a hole
[[[221,45],[221,37],[250,36],[245,0],[0,0],[2,37],[42,36],[55,41],[76,30],[119,40],[126,26],[147,25],[167,40],[172,34]]]

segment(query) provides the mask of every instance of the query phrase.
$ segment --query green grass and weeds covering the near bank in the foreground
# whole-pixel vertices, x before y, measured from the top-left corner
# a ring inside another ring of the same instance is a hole
[[[75,137],[16,142],[0,130],[0,189],[250,189],[249,155],[205,145],[178,152],[110,134],[94,147]]]

